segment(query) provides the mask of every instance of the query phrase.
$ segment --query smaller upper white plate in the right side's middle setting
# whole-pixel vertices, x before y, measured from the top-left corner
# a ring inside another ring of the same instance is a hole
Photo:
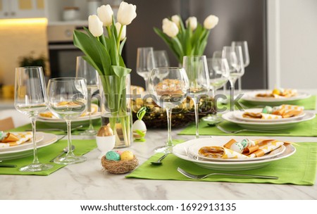
[[[304,118],[306,113],[304,111],[300,113],[299,115],[296,115],[292,118],[278,118],[278,119],[259,119],[259,118],[244,118],[243,114],[246,112],[251,112],[251,113],[261,113],[263,108],[248,108],[245,111],[233,111],[233,115],[235,118],[239,120],[245,120],[245,121],[250,121],[250,122],[286,122],[286,121],[291,121],[291,120],[297,120],[299,118]]]

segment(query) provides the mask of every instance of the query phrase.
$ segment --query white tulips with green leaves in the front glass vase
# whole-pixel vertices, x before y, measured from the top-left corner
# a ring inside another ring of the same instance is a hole
[[[121,53],[126,41],[126,26],[137,17],[136,8],[135,5],[121,2],[116,22],[111,6],[100,6],[97,15],[89,15],[86,33],[75,30],[73,34],[74,45],[85,53],[83,58],[99,73],[104,89],[104,109],[108,111],[107,118],[116,135],[116,145],[125,141],[129,146],[132,136],[131,115],[126,102],[130,90],[127,78],[130,78],[131,69],[125,67]]]

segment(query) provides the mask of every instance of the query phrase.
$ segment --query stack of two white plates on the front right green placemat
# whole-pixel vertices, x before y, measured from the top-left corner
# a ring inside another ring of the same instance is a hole
[[[235,137],[236,141],[240,141],[245,137]],[[295,153],[296,149],[292,144],[286,144],[275,149],[274,152],[261,156],[259,158],[247,159],[222,159],[222,158],[206,158],[200,156],[198,151],[203,146],[223,146],[230,141],[232,137],[212,137],[200,138],[185,141],[173,147],[173,154],[183,160],[191,161],[203,168],[213,170],[251,170],[262,168],[276,160],[287,158]]]

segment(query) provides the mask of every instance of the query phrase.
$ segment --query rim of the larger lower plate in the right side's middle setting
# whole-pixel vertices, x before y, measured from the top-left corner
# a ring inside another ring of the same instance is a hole
[[[306,112],[306,115],[304,115],[303,118],[297,118],[295,120],[284,121],[284,122],[249,122],[245,120],[236,119],[235,116],[233,115],[233,111],[224,113],[222,117],[224,120],[227,120],[229,122],[234,122],[237,124],[270,126],[270,125],[285,125],[285,124],[291,124],[291,123],[304,122],[307,120],[312,120],[313,118],[316,117],[316,115],[314,113]]]

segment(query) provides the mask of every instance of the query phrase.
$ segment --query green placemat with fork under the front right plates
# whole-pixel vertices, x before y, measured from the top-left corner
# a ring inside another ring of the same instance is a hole
[[[212,177],[207,177],[204,180],[194,181],[313,185],[316,180],[317,143],[299,143],[299,146],[296,146],[296,149],[297,151],[294,155],[282,160],[276,160],[263,168],[245,171],[228,171],[230,173],[277,176],[279,177],[278,180],[214,175]],[[177,170],[178,167],[194,174],[225,172],[201,168],[195,163],[182,160],[173,154],[168,155],[163,160],[163,165],[151,165],[150,162],[157,160],[161,155],[161,153],[156,153],[154,156],[151,156],[149,160],[125,177],[150,180],[191,180],[180,174]]]

